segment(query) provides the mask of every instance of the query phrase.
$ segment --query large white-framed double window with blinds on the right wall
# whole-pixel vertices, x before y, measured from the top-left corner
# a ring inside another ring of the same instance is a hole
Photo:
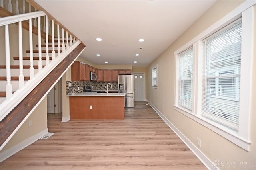
[[[174,52],[174,109],[247,151],[254,88],[254,5],[244,3],[240,12],[233,10]],[[193,53],[186,58],[190,48]]]

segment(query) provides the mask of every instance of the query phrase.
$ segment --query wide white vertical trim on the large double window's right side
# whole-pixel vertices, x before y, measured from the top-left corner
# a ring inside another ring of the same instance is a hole
[[[240,78],[240,113],[238,135],[250,139],[250,113],[252,112],[252,66],[254,40],[254,8],[250,7],[242,13],[242,47],[241,47],[241,78]]]

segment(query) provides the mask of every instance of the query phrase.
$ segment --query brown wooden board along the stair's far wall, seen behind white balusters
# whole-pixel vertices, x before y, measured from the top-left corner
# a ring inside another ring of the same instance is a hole
[[[7,17],[7,16],[13,16],[14,14],[12,12],[9,12],[8,10],[0,7],[0,16],[1,17]],[[15,23],[18,25],[18,22]],[[22,21],[22,28],[29,31],[29,23],[27,21]],[[38,35],[38,28],[32,25],[32,33]],[[43,39],[46,39],[46,34],[44,31],[41,31],[41,37]],[[52,36],[48,35],[48,40],[52,41]]]

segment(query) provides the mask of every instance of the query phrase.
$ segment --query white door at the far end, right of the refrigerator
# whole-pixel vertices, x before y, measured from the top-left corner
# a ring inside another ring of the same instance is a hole
[[[134,73],[135,101],[144,101],[144,73]]]

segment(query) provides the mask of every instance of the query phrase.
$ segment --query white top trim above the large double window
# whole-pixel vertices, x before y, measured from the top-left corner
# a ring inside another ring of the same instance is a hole
[[[174,55],[184,51],[186,48],[194,44],[198,40],[202,40],[209,35],[211,35],[213,32],[217,31],[221,27],[224,27],[224,25],[227,25],[227,23],[231,23],[232,21],[238,19],[241,16],[241,13],[250,8],[251,6],[254,6],[256,4],[256,0],[246,0],[244,3],[242,3],[240,6],[232,10],[230,13],[228,13],[226,16],[218,20],[216,23],[208,27],[205,31],[188,41],[185,45],[180,47],[178,50],[174,52]],[[244,33],[244,31],[243,31]]]

